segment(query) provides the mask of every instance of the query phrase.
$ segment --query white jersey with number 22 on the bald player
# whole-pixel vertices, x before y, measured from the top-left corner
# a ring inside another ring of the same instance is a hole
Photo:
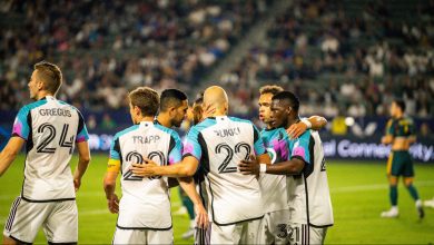
[[[234,117],[207,118],[191,127],[184,157],[197,158],[205,171],[208,213],[217,225],[229,225],[264,216],[259,183],[241,175],[237,165],[250,154],[265,154],[256,127]]]

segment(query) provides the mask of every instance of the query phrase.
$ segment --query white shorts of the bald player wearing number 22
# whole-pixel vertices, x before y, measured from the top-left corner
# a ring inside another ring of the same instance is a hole
[[[259,233],[263,219],[240,222],[234,225],[211,224],[211,244],[264,244]]]

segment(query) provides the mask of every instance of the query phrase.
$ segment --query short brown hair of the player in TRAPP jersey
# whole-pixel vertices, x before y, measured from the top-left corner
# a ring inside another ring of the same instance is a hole
[[[156,116],[160,104],[158,92],[148,87],[139,87],[130,91],[129,101],[140,108],[142,116]]]

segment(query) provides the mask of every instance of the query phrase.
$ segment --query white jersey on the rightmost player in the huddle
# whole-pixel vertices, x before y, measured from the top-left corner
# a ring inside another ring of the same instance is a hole
[[[332,226],[332,200],[319,134],[307,130],[289,141],[289,150],[290,158],[305,161],[300,175],[287,177],[290,223]]]

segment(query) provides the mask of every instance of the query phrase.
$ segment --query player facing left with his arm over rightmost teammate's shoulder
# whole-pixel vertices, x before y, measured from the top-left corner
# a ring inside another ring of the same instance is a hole
[[[288,158],[288,136],[283,127],[275,128],[270,117],[270,105],[273,96],[283,91],[279,86],[264,86],[259,89],[259,119],[266,128],[260,131],[260,137],[272,158],[272,164],[284,161]],[[323,117],[314,116],[307,124],[315,130],[324,127],[327,120]],[[296,133],[296,137],[303,134],[307,126],[299,121],[293,124],[289,129]],[[299,127],[299,128],[298,128]],[[286,244],[287,243],[287,223],[289,220],[289,209],[287,206],[286,176],[284,175],[260,175],[259,184],[263,192],[265,207],[265,217],[263,220],[263,234],[266,244]]]

